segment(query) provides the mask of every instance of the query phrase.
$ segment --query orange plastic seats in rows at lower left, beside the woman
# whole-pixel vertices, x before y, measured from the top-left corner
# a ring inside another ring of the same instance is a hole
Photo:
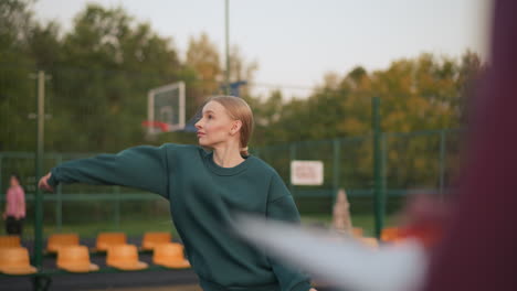
[[[183,246],[171,242],[168,233],[147,233],[143,249],[152,250],[152,262],[166,268],[190,268],[184,258]],[[122,233],[102,233],[97,236],[96,251],[106,251],[106,265],[120,270],[141,270],[148,265],[138,260],[138,249],[126,242]],[[78,244],[75,234],[59,234],[49,237],[48,251],[57,254],[57,268],[70,272],[89,272],[98,266],[89,260],[89,251]],[[29,251],[20,246],[17,236],[0,236],[0,272],[7,274],[30,274],[36,272],[29,261]]]

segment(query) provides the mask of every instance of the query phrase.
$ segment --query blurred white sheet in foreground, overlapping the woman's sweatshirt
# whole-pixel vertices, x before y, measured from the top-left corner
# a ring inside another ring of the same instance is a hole
[[[413,291],[424,277],[426,256],[419,242],[369,248],[325,230],[240,215],[240,235],[270,255],[337,288],[354,291]]]

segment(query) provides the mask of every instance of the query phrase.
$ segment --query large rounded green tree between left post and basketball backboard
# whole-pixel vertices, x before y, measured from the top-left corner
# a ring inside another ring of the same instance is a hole
[[[177,80],[182,69],[170,40],[120,8],[89,4],[62,42],[65,65],[52,72],[49,146],[116,151],[140,143],[147,91]]]

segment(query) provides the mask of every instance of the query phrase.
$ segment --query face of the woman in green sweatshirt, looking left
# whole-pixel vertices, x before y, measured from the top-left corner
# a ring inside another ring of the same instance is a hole
[[[196,123],[199,144],[214,148],[225,142],[231,137],[234,121],[220,103],[208,103],[203,107],[202,118]]]

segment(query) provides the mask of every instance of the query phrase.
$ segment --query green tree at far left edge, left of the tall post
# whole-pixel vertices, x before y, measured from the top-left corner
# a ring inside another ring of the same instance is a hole
[[[0,1],[0,151],[30,150],[34,144],[34,60],[28,53],[33,26],[32,1]]]

